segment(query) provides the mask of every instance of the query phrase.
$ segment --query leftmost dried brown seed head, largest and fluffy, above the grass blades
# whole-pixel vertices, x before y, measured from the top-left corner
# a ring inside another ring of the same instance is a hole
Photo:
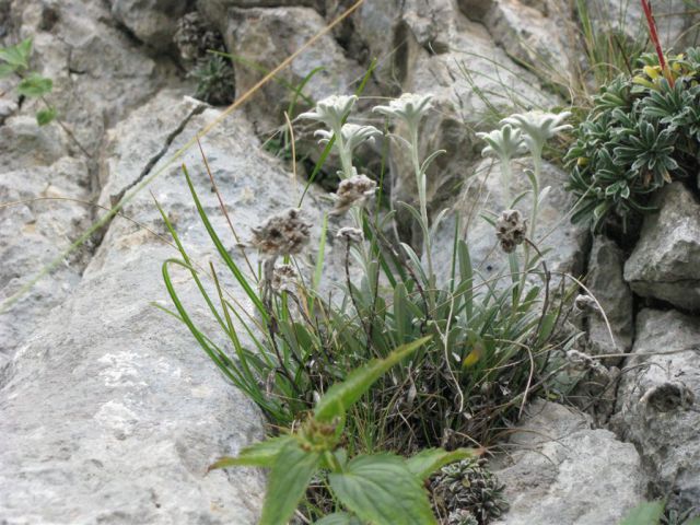
[[[253,245],[268,256],[296,255],[311,238],[311,222],[299,208],[268,218],[253,230]]]

